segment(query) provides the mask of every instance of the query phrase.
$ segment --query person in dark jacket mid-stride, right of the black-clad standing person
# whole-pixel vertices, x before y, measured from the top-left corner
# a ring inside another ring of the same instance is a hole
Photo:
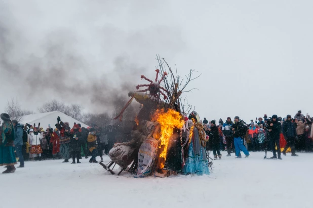
[[[283,135],[287,141],[283,154],[286,156],[288,147],[291,149],[291,156],[298,156],[295,151],[295,138],[297,136],[296,126],[291,122],[291,115],[287,115],[287,120],[283,122]]]

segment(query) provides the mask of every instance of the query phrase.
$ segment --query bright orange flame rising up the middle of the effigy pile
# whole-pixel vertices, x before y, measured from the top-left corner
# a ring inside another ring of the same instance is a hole
[[[167,147],[169,144],[169,139],[173,135],[174,128],[182,128],[184,125],[184,120],[179,112],[168,109],[158,109],[152,116],[152,121],[158,121],[161,126],[161,145],[165,145],[164,150],[160,154],[160,157],[166,159]],[[164,164],[161,164],[161,168]]]

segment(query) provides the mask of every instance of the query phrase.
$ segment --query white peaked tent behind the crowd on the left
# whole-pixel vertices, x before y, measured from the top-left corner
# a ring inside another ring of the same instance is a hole
[[[81,121],[78,121],[60,111],[52,111],[52,112],[48,112],[48,113],[37,113],[37,114],[30,114],[30,115],[24,115],[20,122],[21,124],[31,124],[33,125],[34,123],[36,123],[36,127],[38,126],[38,123],[40,122],[40,127],[46,129],[48,128],[49,124],[51,126],[51,128],[55,128],[55,124],[57,123],[57,118],[58,116],[60,116],[61,120],[63,122],[68,122],[69,123],[69,127],[72,128],[74,126],[74,122],[75,123],[80,123],[82,125],[82,127],[87,128],[88,126],[85,123],[82,123]]]

